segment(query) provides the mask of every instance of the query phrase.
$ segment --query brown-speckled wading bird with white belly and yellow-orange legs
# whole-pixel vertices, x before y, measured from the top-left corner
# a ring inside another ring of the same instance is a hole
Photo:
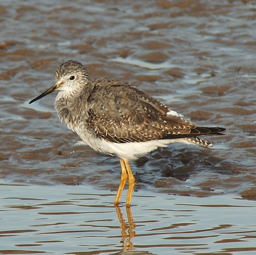
[[[117,206],[128,179],[126,207],[130,208],[135,178],[129,162],[173,142],[211,147],[201,135],[224,135],[222,127],[197,126],[159,100],[114,78],[90,79],[85,66],[74,60],[56,70],[56,82],[29,104],[59,91],[54,102],[61,122],[96,151],[118,156],[121,180]]]

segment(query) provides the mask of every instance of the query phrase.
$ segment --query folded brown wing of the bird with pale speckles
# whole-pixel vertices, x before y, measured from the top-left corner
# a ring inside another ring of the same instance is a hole
[[[140,142],[209,134],[128,82],[98,78],[87,100],[88,128],[112,142]],[[216,130],[218,132],[218,130]]]

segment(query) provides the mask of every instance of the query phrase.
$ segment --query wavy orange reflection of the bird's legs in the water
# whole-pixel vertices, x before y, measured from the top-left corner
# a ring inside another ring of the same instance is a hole
[[[130,207],[126,208],[128,223],[126,223],[125,220],[123,219],[123,213],[121,212],[120,207],[116,205],[115,208],[117,211],[118,219],[121,224],[120,228],[122,229],[121,234],[122,234],[123,238],[121,239],[120,243],[123,244],[123,250],[132,250],[133,243],[132,243],[131,239],[136,234],[135,234],[135,231],[133,231],[133,229],[135,229],[135,224],[133,223],[133,216],[132,216],[131,208]],[[128,230],[128,234],[126,232],[127,230]]]

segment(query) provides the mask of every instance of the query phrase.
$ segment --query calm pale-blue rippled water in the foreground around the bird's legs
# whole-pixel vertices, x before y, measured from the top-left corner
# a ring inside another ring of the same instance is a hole
[[[126,211],[123,204],[115,208],[109,202],[114,197],[114,192],[91,185],[2,184],[0,254],[256,251],[255,201],[232,195],[197,198],[140,190]]]

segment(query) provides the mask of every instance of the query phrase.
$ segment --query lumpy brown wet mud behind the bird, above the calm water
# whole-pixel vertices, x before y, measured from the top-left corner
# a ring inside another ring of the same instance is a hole
[[[135,161],[138,194],[182,195],[187,201],[231,196],[255,206],[255,7],[239,0],[2,1],[0,182],[21,184],[21,191],[22,185],[66,184],[61,187],[116,192],[118,158],[91,150],[60,123],[56,94],[28,104],[53,85],[56,68],[73,59],[85,64],[91,78],[127,80],[197,125],[227,128],[224,137],[209,139],[212,149],[172,144]],[[113,200],[107,197],[109,206]],[[255,240],[255,224],[247,219]]]

